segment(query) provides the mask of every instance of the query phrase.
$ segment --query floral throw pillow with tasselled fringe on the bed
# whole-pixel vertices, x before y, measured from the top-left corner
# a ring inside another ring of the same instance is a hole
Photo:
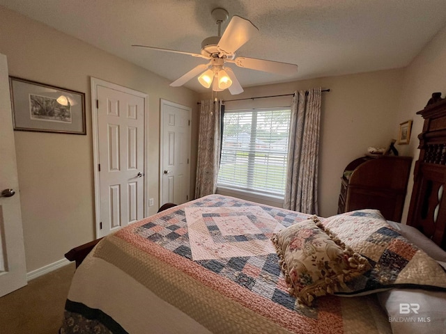
[[[316,216],[284,228],[272,241],[289,293],[306,305],[370,269],[366,258],[332,239]]]

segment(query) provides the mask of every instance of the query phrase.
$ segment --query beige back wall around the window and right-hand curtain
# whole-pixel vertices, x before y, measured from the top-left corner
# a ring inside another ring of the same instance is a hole
[[[369,146],[386,147],[396,138],[402,79],[403,70],[387,70],[245,88],[240,95],[223,92],[219,98],[233,100],[293,93],[316,86],[330,88],[330,92],[323,93],[322,100],[318,200],[319,214],[331,216],[337,214],[340,177],[348,162],[362,157]],[[201,98],[209,96],[203,94]],[[275,103],[284,105],[284,98],[249,101],[255,107]],[[234,104],[231,102],[228,109]],[[242,104],[246,106],[247,102],[240,102],[240,108]]]

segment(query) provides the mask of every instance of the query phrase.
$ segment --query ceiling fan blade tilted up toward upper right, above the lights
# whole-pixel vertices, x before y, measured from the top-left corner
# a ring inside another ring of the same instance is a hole
[[[251,21],[234,15],[217,47],[224,54],[233,54],[258,32],[259,29]]]

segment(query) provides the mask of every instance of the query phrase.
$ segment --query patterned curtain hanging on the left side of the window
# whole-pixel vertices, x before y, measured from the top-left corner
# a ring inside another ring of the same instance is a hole
[[[201,101],[195,198],[215,193],[220,166],[220,102]]]

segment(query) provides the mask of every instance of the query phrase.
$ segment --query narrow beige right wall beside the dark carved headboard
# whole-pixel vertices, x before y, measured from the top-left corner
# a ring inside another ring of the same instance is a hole
[[[446,27],[422,49],[420,54],[410,63],[404,72],[403,84],[401,86],[401,100],[399,102],[399,113],[397,123],[413,120],[412,135],[409,145],[399,145],[402,152],[414,157],[406,205],[403,212],[403,221],[406,222],[408,207],[410,205],[410,195],[413,188],[413,167],[415,160],[420,155],[418,150],[418,134],[423,129],[423,118],[417,115],[426,106],[427,101],[434,92],[442,92],[442,97],[446,93]],[[395,132],[398,130],[395,129]]]

